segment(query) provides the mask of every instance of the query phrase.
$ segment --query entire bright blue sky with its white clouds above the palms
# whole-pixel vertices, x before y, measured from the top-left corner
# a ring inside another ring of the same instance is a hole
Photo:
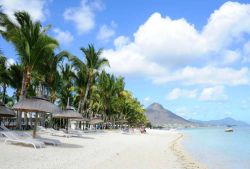
[[[9,15],[27,10],[61,50],[104,48],[108,71],[145,105],[185,117],[250,122],[250,1],[0,0]],[[17,59],[0,38],[0,48]]]

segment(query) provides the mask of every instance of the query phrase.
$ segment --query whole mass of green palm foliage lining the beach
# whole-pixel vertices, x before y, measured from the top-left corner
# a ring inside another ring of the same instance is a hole
[[[109,62],[101,57],[102,49],[96,50],[92,44],[81,48],[82,60],[67,51],[55,54],[59,44],[47,35],[50,25],[42,27],[39,21],[33,22],[27,12],[15,12],[14,16],[12,21],[0,11],[0,26],[4,27],[0,34],[14,45],[19,56],[19,63],[9,68],[6,58],[0,56],[2,98],[8,86],[15,89],[15,99],[19,100],[22,94],[36,95],[42,84],[51,102],[65,108],[69,98],[86,117],[98,116],[112,124],[127,121],[133,127],[148,123],[141,103],[125,90],[124,78],[103,70]],[[7,96],[5,102],[11,105],[13,98]]]

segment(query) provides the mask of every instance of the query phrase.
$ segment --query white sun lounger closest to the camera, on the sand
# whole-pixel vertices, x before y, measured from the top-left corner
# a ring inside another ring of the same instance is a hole
[[[22,138],[18,136],[15,132],[1,131],[0,133],[6,137],[4,144],[6,144],[7,142],[22,143],[32,145],[35,149],[37,149],[38,147],[45,147],[45,144],[43,142],[31,138]]]

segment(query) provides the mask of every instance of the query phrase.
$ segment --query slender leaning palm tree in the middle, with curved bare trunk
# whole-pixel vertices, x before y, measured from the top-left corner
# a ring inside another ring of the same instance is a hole
[[[84,108],[87,102],[87,97],[89,95],[91,83],[93,81],[94,76],[103,66],[109,66],[109,62],[107,59],[101,57],[102,49],[96,51],[93,45],[88,45],[88,48],[81,48],[81,51],[85,55],[87,68],[87,86],[83,99]]]

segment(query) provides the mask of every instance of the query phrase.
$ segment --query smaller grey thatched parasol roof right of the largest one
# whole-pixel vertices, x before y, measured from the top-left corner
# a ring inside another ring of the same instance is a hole
[[[64,119],[83,119],[80,113],[74,111],[74,109],[67,107],[66,110],[63,110],[61,113],[56,113],[53,115],[53,118],[64,118]]]

